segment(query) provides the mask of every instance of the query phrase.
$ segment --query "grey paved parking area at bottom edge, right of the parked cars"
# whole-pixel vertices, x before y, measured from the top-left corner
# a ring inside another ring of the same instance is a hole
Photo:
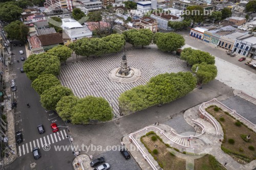
[[[131,154],[130,154],[131,155]],[[141,168],[132,157],[130,159],[124,159],[120,151],[108,151],[104,152],[98,156],[93,157],[93,159],[103,157],[105,158],[105,163],[110,164],[111,170],[120,170],[120,169],[133,169],[140,170]]]

